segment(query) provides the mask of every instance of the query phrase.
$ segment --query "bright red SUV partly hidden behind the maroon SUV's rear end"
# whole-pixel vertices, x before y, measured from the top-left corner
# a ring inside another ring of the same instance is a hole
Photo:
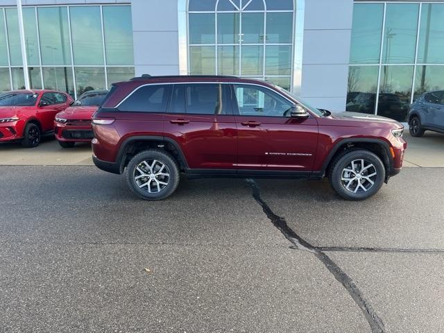
[[[54,132],[63,148],[72,148],[76,142],[91,142],[91,118],[103,102],[108,90],[89,90],[83,93],[71,107],[56,114]]]

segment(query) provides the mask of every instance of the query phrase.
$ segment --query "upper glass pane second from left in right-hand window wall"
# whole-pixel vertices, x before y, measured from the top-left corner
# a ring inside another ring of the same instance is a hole
[[[418,29],[416,3],[387,3],[382,62],[412,64],[415,60]]]

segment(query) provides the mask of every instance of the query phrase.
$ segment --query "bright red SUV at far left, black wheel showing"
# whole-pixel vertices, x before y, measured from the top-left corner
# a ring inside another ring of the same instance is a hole
[[[22,140],[35,147],[43,134],[52,133],[54,117],[73,102],[64,92],[15,90],[0,95],[0,142]]]

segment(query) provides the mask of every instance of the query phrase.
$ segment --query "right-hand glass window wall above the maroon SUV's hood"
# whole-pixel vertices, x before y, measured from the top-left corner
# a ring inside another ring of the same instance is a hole
[[[422,93],[444,89],[444,3],[355,3],[347,110],[406,121]]]

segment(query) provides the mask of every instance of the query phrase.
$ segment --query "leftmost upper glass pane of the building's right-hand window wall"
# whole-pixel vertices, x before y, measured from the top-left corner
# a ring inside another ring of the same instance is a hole
[[[350,63],[379,64],[383,17],[384,3],[355,3]]]

